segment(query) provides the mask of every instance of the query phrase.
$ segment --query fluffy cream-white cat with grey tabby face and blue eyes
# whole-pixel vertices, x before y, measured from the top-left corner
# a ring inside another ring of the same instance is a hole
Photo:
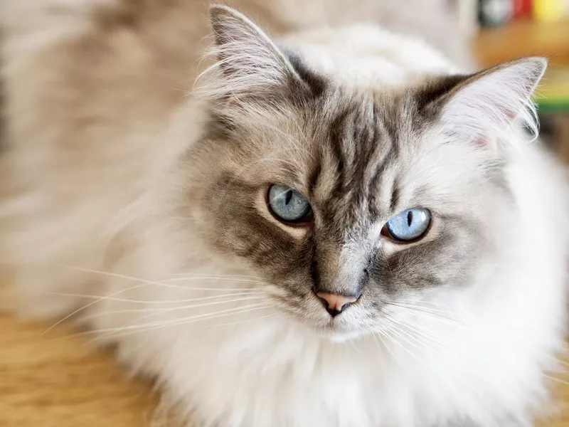
[[[4,14],[4,301],[116,344],[191,427],[546,411],[568,260],[565,170],[532,142],[546,60],[464,73],[376,26],[273,41],[211,6],[172,109],[196,28],[115,6]]]

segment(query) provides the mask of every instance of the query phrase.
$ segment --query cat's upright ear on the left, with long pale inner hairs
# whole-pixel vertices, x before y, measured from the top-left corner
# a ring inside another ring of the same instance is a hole
[[[210,21],[213,69],[218,72],[215,87],[208,88],[210,97],[266,102],[305,89],[287,56],[246,16],[227,6],[211,6]]]

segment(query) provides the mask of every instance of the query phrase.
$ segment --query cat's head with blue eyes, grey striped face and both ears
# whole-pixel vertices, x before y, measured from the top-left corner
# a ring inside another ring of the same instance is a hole
[[[212,120],[190,160],[201,232],[282,311],[331,334],[375,331],[390,307],[468,288],[499,258],[517,221],[504,142],[545,60],[355,87],[231,9],[211,21]]]

